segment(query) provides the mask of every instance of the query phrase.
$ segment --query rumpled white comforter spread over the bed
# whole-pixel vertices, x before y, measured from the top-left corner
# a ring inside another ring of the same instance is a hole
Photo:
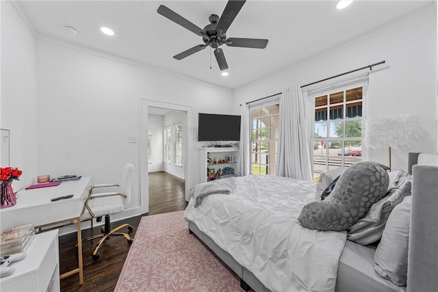
[[[334,291],[346,232],[311,230],[297,218],[315,183],[241,176],[231,194],[212,194],[184,217],[271,291]]]

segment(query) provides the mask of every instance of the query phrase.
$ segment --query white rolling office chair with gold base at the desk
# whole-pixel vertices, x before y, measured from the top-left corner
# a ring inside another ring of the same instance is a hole
[[[85,201],[83,213],[81,215],[81,221],[92,220],[97,218],[100,222],[102,217],[105,216],[105,227],[102,228],[103,233],[99,235],[92,235],[85,237],[82,241],[88,241],[92,239],[100,238],[99,242],[94,246],[92,257],[94,259],[99,258],[99,248],[105,240],[111,236],[123,236],[131,244],[133,239],[127,233],[119,233],[118,230],[127,227],[129,231],[133,230],[131,224],[122,224],[117,228],[111,229],[110,215],[119,213],[127,209],[131,202],[131,181],[133,176],[134,167],[131,163],[127,163],[123,169],[122,178],[120,183],[104,183],[99,185],[92,185],[90,187],[90,196]],[[101,187],[116,187],[116,191],[94,193],[96,189]],[[91,225],[92,226],[92,225]]]

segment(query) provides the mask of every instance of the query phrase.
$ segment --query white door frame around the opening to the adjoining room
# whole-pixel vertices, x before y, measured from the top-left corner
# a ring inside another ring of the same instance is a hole
[[[150,138],[150,131],[149,128],[152,127],[152,125],[149,125],[149,114],[157,114],[159,112],[165,113],[165,112],[177,112],[181,113],[181,122],[183,124],[183,158],[181,163],[181,173],[183,181],[184,181],[184,196],[185,200],[188,200],[188,194],[190,185],[192,185],[192,176],[190,175],[190,170],[192,169],[192,158],[190,157],[190,149],[192,148],[192,134],[190,133],[189,129],[192,129],[192,107],[186,106],[186,105],[177,105],[172,103],[162,103],[157,101],[149,101],[149,100],[142,100],[142,112],[141,112],[141,127],[140,127],[140,206],[142,213],[149,213],[149,168],[153,168],[156,165],[153,165],[153,163],[149,163],[148,159],[148,152],[147,149],[149,148],[149,138]],[[164,137],[163,137],[164,140]],[[172,172],[172,170],[170,170]],[[165,174],[163,174],[165,175]],[[179,176],[178,174],[176,176]],[[164,184],[166,183],[165,180],[161,180]],[[171,180],[170,180],[171,181]],[[154,183],[155,185],[155,183]],[[157,186],[155,185],[155,188]],[[155,199],[153,199],[155,200]],[[167,198],[162,198],[162,200],[165,201]],[[181,206],[181,200],[178,202],[175,202],[177,206]],[[181,208],[181,207],[177,207]],[[161,210],[161,209],[159,209]],[[153,211],[156,212],[156,211]]]

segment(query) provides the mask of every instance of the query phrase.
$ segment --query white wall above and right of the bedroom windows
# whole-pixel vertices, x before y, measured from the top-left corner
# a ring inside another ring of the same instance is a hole
[[[435,3],[436,5],[436,3]],[[437,108],[437,12],[435,5],[379,31],[303,61],[270,78],[235,91],[233,109],[240,104],[386,60],[384,70],[372,70],[367,118],[388,114],[417,114],[422,138],[417,146],[392,151],[393,169],[407,168],[407,152],[434,152]],[[297,42],[299,45],[299,42]],[[368,159],[387,163],[387,149],[368,150]]]

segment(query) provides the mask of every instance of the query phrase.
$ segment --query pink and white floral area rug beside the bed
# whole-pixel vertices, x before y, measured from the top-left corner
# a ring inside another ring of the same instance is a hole
[[[142,217],[114,291],[243,290],[177,211]]]

